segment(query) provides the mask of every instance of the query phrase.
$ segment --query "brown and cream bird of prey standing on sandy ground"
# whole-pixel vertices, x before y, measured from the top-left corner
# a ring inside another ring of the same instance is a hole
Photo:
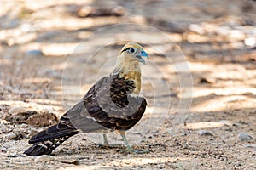
[[[104,144],[107,134],[120,134],[128,153],[146,153],[133,150],[125,132],[141,120],[147,101],[140,94],[141,65],[149,58],[137,42],[128,42],[120,50],[113,71],[99,79],[76,105],[73,105],[60,121],[33,135],[28,143],[33,144],[24,154],[27,156],[49,155],[55,148],[78,133],[102,133]]]

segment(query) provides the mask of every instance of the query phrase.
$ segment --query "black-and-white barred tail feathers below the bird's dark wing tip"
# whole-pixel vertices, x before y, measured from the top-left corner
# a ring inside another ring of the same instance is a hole
[[[71,136],[64,136],[57,139],[48,139],[45,140],[44,142],[38,142],[36,144],[33,144],[30,148],[28,148],[24,152],[24,154],[26,154],[27,156],[49,155],[53,150],[55,150],[56,147],[58,147]]]

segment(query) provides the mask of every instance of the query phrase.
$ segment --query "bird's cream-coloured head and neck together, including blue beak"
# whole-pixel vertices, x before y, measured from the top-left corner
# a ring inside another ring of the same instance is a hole
[[[118,73],[120,77],[133,80],[136,83],[135,94],[139,94],[141,89],[141,69],[139,63],[146,64],[143,57],[148,58],[148,54],[142,46],[135,42],[129,42],[119,52],[117,63],[113,73]]]

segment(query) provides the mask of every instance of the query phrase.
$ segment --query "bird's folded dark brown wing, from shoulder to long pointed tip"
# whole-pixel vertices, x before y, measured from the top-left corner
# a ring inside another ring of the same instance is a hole
[[[36,134],[29,143],[102,130],[128,130],[143,116],[147,102],[131,95],[134,82],[118,76],[103,77],[90,88],[55,126]]]

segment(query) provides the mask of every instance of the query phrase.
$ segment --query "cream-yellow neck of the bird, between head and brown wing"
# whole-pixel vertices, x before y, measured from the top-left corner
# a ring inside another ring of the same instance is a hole
[[[132,80],[135,82],[134,94],[139,94],[141,91],[141,68],[137,61],[130,62],[118,62],[113,74],[118,74],[119,77],[124,77],[126,80]]]

